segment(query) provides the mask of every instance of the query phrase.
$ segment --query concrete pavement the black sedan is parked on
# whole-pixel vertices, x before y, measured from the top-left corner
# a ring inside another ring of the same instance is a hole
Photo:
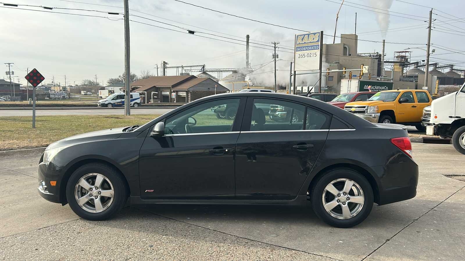
[[[374,206],[354,228],[310,208],[127,207],[107,221],[78,218],[37,192],[41,151],[0,152],[2,260],[464,260],[464,155],[413,144],[417,196]]]

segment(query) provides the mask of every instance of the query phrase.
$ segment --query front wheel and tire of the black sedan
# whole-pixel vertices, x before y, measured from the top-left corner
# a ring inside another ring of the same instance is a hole
[[[105,220],[114,215],[124,207],[127,197],[124,178],[104,163],[80,166],[66,185],[69,206],[76,215],[87,220]]]

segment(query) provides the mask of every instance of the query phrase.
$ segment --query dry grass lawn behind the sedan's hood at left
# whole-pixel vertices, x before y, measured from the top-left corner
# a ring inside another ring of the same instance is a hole
[[[76,134],[132,125],[142,125],[159,114],[118,116],[32,116],[0,117],[0,150],[46,147],[54,141]]]

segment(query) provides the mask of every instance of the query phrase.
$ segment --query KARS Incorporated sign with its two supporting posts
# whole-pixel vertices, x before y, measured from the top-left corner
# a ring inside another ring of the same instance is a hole
[[[295,72],[319,70],[319,89],[321,90],[321,64],[323,62],[323,31],[295,35],[294,49],[294,94]]]

